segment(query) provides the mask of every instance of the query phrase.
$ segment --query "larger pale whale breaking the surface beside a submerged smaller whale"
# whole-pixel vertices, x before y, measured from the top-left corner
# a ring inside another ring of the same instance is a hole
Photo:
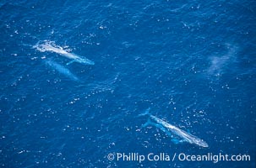
[[[85,65],[95,65],[94,61],[92,60],[88,60],[87,58],[82,58],[79,55],[75,55],[74,53],[70,53],[66,50],[63,49],[63,47],[55,45],[53,42],[51,41],[45,41],[45,43],[43,44],[37,44],[34,46],[35,49],[41,51],[41,52],[54,52],[57,53],[59,55],[63,55],[65,57],[67,57],[68,59],[71,59],[70,62],[68,62],[67,65],[73,63],[73,62],[79,62],[81,64],[85,64]]]

